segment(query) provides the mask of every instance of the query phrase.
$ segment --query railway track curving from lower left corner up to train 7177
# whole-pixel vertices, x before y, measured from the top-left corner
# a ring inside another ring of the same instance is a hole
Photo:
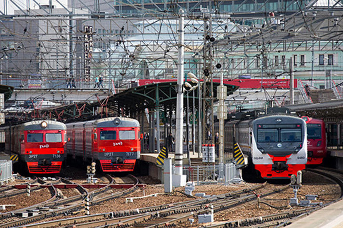
[[[111,176],[108,175],[107,178],[109,179],[109,184],[103,188],[95,189],[91,192],[88,192],[81,185],[78,185],[78,190],[80,191],[80,195],[68,197],[66,199],[59,199],[59,200],[51,200],[50,199],[49,202],[43,202],[43,203],[34,205],[34,207],[36,207],[38,209],[43,209],[43,210],[40,210],[40,214],[31,216],[31,217],[27,217],[27,218],[18,218],[18,217],[12,216],[12,221],[9,221],[8,219],[4,220],[4,223],[0,224],[0,228],[1,227],[23,226],[23,225],[35,223],[35,222],[38,222],[41,220],[45,220],[45,219],[51,219],[52,217],[55,217],[58,215],[66,215],[66,214],[71,214],[71,213],[76,212],[76,211],[81,211],[85,207],[84,200],[87,196],[90,199],[90,206],[93,206],[93,205],[99,204],[101,202],[104,202],[106,200],[125,196],[128,193],[130,193],[130,192],[132,192],[138,188],[137,187],[138,179],[132,176],[132,178],[135,179],[136,183],[131,188],[122,190],[120,192],[113,193],[109,196],[102,197],[102,195],[105,195],[105,193],[107,191],[112,189],[111,186],[114,184],[114,180]],[[73,184],[71,182],[69,182],[69,183]],[[53,185],[51,185],[51,186],[53,186]],[[55,198],[56,198],[56,195],[57,194],[55,194]],[[70,205],[71,203],[72,203],[72,205]],[[27,210],[27,208],[23,209],[23,210]],[[9,214],[13,215],[12,212],[9,212]]]

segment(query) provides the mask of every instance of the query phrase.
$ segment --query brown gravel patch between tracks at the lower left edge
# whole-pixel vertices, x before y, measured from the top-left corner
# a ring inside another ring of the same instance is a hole
[[[47,188],[42,188],[37,191],[31,192],[31,196],[27,197],[26,194],[12,196],[9,198],[0,199],[0,205],[2,204],[15,204],[15,206],[6,207],[6,210],[1,212],[14,211],[24,207],[32,206],[40,202],[44,202],[51,198],[51,194]]]

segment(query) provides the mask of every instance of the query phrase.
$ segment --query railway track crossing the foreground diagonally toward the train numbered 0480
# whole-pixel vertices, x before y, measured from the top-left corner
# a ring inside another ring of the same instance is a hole
[[[144,207],[128,211],[119,211],[111,213],[103,213],[97,215],[89,215],[82,217],[73,217],[60,219],[55,221],[49,221],[42,224],[32,224],[26,227],[55,227],[55,226],[67,226],[75,225],[77,227],[98,227],[98,226],[158,226],[161,224],[167,224],[172,219],[187,220],[189,217],[193,217],[197,212],[208,210],[209,204],[215,204],[222,202],[222,204],[231,202],[230,206],[234,206],[239,201],[241,203],[248,201],[250,198],[256,198],[256,195],[252,193],[260,188],[263,188],[266,184],[257,186],[251,189],[243,189],[229,194],[223,194],[211,198],[202,198],[185,202],[164,204],[157,206]],[[286,186],[288,187],[288,186]],[[239,197],[241,195],[241,197]],[[226,206],[229,206],[226,204]],[[220,205],[216,205],[216,210],[221,210]],[[224,210],[224,209],[223,209]],[[163,225],[161,225],[163,226]]]

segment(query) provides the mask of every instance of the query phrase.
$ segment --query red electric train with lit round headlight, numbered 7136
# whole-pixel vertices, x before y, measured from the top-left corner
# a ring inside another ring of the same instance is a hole
[[[66,124],[52,120],[34,120],[2,128],[5,152],[17,154],[32,174],[61,171],[67,143]],[[23,169],[20,166],[20,169]]]

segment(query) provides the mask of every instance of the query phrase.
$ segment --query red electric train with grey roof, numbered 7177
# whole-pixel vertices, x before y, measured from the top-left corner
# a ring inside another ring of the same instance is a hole
[[[137,120],[109,117],[68,123],[68,156],[97,161],[104,172],[132,172],[140,158],[142,134]]]

